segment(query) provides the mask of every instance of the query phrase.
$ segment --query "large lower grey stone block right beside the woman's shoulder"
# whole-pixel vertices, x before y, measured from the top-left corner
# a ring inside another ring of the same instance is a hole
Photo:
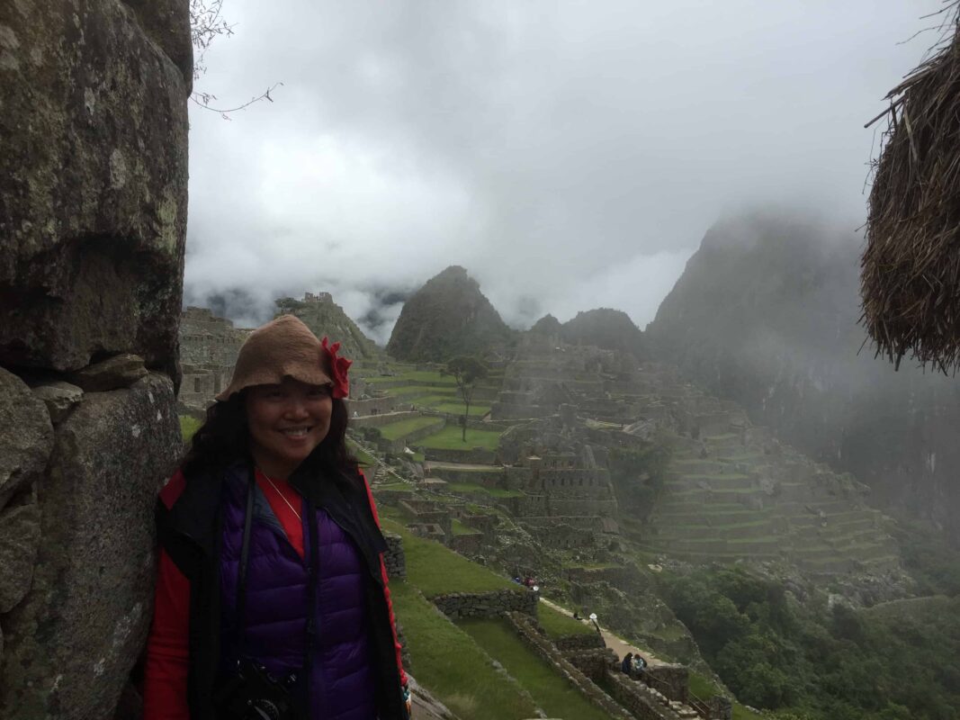
[[[111,716],[149,626],[154,502],[181,451],[175,406],[170,379],[150,374],[87,394],[60,424],[37,485],[33,585],[4,617],[0,717]]]

